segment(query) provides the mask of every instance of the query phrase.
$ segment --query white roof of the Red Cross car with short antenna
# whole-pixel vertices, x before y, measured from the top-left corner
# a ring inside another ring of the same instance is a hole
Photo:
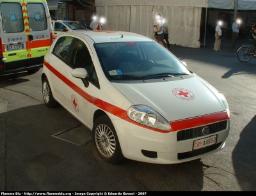
[[[69,33],[65,33],[69,34]],[[121,41],[154,41],[147,36],[137,33],[125,31],[79,31],[75,34],[77,36],[89,36],[95,43],[102,42],[121,42]]]

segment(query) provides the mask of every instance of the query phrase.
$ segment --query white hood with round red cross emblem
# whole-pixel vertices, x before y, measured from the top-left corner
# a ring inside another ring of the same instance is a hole
[[[134,105],[148,105],[168,121],[225,111],[218,91],[197,75],[174,81],[112,84]]]

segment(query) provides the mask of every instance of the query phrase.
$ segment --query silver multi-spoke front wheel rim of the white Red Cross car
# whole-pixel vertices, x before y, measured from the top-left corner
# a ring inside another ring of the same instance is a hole
[[[116,139],[111,129],[106,124],[99,124],[95,130],[95,142],[101,155],[111,157],[116,150]]]

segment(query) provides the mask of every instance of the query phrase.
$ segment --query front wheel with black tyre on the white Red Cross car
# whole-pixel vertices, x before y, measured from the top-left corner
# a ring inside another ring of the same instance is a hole
[[[125,160],[116,130],[108,116],[100,116],[93,124],[93,144],[100,158],[116,164]]]

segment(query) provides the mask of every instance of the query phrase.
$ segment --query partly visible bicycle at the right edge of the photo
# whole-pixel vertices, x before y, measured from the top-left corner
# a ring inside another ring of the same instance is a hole
[[[250,61],[250,59],[256,58],[256,40],[248,39],[249,42],[252,45],[242,45],[238,50],[237,50],[237,58],[239,61],[246,63]]]

